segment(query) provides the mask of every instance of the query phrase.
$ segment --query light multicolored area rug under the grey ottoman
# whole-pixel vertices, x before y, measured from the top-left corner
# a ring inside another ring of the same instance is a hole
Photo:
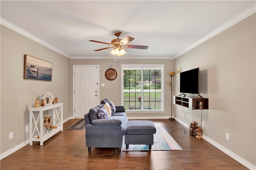
[[[126,149],[126,145],[123,143],[123,151],[145,150],[149,150],[148,145],[129,144],[129,149]],[[152,145],[151,150],[182,150],[182,148],[163,127],[156,127],[156,134],[154,134],[154,144]]]

